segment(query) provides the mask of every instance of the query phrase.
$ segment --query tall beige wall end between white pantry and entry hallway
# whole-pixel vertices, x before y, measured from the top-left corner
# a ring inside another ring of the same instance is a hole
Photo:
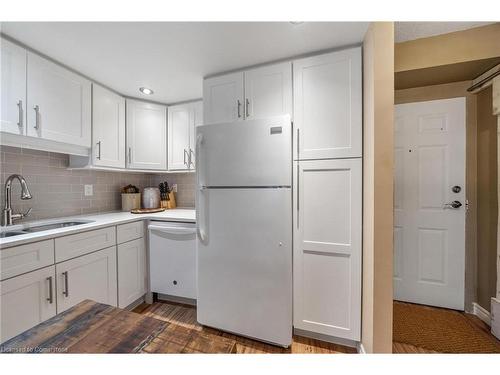
[[[394,24],[363,42],[363,306],[368,353],[392,352]]]

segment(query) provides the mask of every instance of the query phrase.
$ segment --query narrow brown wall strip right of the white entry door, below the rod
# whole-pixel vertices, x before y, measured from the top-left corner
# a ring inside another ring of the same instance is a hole
[[[477,94],[477,301],[488,311],[497,281],[497,117],[492,113],[490,86]]]

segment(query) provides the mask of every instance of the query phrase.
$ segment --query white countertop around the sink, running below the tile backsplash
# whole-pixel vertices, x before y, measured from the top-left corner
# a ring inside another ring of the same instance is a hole
[[[130,223],[139,220],[157,220],[157,221],[181,221],[194,223],[196,221],[196,214],[194,209],[176,208],[172,210],[165,210],[154,214],[131,214],[130,212],[113,211],[102,214],[94,215],[80,215],[71,217],[58,217],[56,219],[45,219],[26,222],[19,225],[12,225],[9,227],[2,227],[1,231],[16,231],[22,230],[30,226],[38,226],[44,224],[60,223],[62,221],[91,221],[90,223],[75,225],[72,227],[51,229],[42,232],[20,234],[18,236],[0,238],[0,248],[8,248],[12,246],[22,245],[29,242],[41,241],[49,238],[56,238],[85,232],[92,229],[109,227],[111,225]]]

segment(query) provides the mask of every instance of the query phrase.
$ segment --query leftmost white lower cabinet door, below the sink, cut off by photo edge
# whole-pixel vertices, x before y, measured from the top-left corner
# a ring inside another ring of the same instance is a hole
[[[56,315],[55,267],[0,282],[0,342]]]

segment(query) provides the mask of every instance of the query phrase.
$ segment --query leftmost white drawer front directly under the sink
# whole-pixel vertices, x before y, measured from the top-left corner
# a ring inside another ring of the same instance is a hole
[[[0,252],[0,279],[54,264],[54,240],[11,247]]]

